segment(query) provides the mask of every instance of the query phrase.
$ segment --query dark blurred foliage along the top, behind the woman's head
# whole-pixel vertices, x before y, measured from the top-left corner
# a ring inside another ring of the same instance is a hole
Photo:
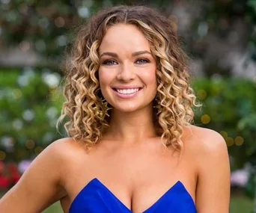
[[[117,4],[147,4],[160,8],[163,13],[171,15],[170,7],[179,4],[195,4],[195,1],[138,1],[138,0],[90,0],[90,1],[34,1],[2,0],[0,4],[0,46],[19,46],[22,51],[33,49],[43,56],[42,66],[58,66],[63,58],[64,49],[73,39],[76,27],[95,13],[100,7]],[[201,14],[196,16],[186,37],[186,50],[193,57],[204,58],[204,38],[208,34],[221,37],[229,42],[234,23],[246,25],[246,40],[243,48],[256,60],[256,0],[211,0],[196,1]],[[189,37],[188,37],[189,35]],[[233,32],[233,36],[236,35]],[[37,64],[38,65],[38,64]],[[204,72],[212,74],[204,67]]]

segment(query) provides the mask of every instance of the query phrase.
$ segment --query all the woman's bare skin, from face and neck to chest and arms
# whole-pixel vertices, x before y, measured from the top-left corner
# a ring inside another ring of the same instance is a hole
[[[230,168],[224,139],[212,130],[186,126],[180,161],[178,152],[165,149],[152,119],[156,62],[148,53],[132,56],[139,51],[150,52],[150,47],[137,28],[109,28],[100,55],[117,56],[101,58],[99,75],[103,96],[113,106],[110,129],[90,152],[71,138],[49,145],[0,200],[0,212],[41,212],[61,200],[66,213],[79,191],[97,177],[134,213],[144,212],[178,180],[198,213],[228,213]],[[117,84],[143,90],[137,98],[119,99],[111,88]]]

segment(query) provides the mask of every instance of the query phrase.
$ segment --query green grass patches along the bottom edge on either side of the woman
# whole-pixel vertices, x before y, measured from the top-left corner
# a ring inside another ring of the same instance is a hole
[[[253,200],[243,195],[231,197],[231,205],[229,213],[252,213]],[[43,213],[63,213],[59,202],[54,203]]]

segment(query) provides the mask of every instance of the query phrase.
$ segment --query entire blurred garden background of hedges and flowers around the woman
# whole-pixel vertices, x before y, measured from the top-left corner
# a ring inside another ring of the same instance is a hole
[[[172,20],[203,104],[195,125],[219,132],[231,161],[231,213],[253,212],[256,0],[0,0],[0,188],[4,194],[58,138],[65,50],[100,7],[140,4]],[[61,212],[55,203],[45,212]],[[256,202],[255,211],[256,212]]]

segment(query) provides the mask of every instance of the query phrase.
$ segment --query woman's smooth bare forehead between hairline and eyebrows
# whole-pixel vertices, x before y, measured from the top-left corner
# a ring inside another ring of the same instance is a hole
[[[141,51],[150,52],[150,45],[144,34],[135,26],[116,24],[109,27],[100,44],[100,53],[104,51]]]

